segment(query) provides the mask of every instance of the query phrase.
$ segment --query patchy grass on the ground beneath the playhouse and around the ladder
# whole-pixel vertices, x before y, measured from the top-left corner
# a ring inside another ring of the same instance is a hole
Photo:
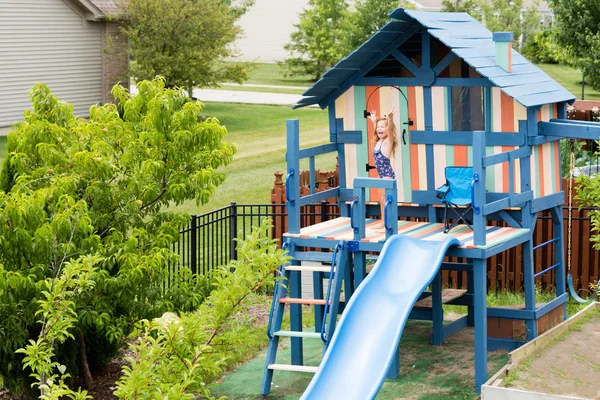
[[[537,301],[548,301],[552,294],[538,293]],[[488,306],[507,306],[524,302],[522,294],[509,292],[490,293]],[[444,307],[446,311],[455,311],[459,306]],[[581,306],[579,309],[582,308]],[[460,307],[459,313],[464,313]],[[307,316],[304,310],[303,316]],[[569,315],[575,311],[572,310]],[[309,318],[310,319],[310,318]],[[305,326],[312,321],[306,322]],[[377,398],[398,399],[477,399],[474,391],[473,331],[464,329],[446,340],[442,347],[429,344],[431,323],[408,321],[401,338],[401,377],[398,380],[386,380]],[[368,340],[368,339],[366,339]],[[277,362],[289,363],[289,340],[280,344]],[[322,354],[322,344],[318,340],[304,341],[305,365],[318,365]],[[248,363],[226,374],[213,388],[213,395],[227,396],[231,400],[251,399],[297,399],[304,391],[312,375],[277,371],[274,375],[272,392],[262,397],[260,383],[264,371],[266,352],[262,351]],[[488,353],[488,376],[498,371],[508,360],[502,351]]]

